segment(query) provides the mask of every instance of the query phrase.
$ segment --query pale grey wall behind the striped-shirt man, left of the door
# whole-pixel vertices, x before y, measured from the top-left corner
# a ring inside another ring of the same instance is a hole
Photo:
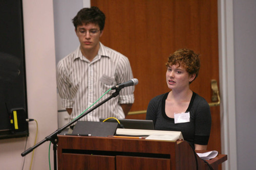
[[[90,7],[90,1],[53,1],[56,65],[59,60],[76,50],[79,45],[72,19],[83,7]],[[62,108],[59,94],[57,94],[57,102],[58,127],[61,128],[70,122],[70,116],[66,108]]]

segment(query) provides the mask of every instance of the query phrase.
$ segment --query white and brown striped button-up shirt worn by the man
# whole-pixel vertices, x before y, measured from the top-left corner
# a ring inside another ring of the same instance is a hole
[[[111,87],[131,79],[133,72],[128,58],[102,43],[97,56],[91,62],[82,55],[79,46],[57,65],[58,92],[62,107],[72,108],[71,119],[80,115]],[[113,92],[115,91],[110,90],[98,103]],[[116,98],[112,98],[80,120],[99,121],[100,117],[124,118],[120,104],[134,103],[133,92],[134,86],[121,89]]]

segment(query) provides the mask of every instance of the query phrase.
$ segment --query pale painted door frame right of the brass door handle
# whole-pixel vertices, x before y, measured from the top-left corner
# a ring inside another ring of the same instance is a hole
[[[223,169],[237,169],[236,101],[234,90],[233,0],[218,0],[219,76]]]

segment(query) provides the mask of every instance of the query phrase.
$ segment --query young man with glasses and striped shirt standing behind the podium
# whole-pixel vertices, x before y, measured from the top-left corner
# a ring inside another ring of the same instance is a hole
[[[118,83],[133,79],[127,57],[100,42],[105,15],[97,7],[83,8],[73,18],[80,45],[59,61],[57,86],[71,118],[77,117],[101,95]],[[113,90],[99,101],[108,98]],[[134,102],[134,86],[123,88],[116,98],[101,105],[80,120],[99,121],[100,117],[124,118]]]

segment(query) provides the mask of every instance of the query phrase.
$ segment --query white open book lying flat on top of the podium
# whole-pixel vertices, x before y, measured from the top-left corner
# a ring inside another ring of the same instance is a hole
[[[147,136],[145,139],[176,141],[183,139],[182,133],[179,131],[159,131],[159,130],[142,130],[142,129],[117,129],[117,135],[129,136]]]

